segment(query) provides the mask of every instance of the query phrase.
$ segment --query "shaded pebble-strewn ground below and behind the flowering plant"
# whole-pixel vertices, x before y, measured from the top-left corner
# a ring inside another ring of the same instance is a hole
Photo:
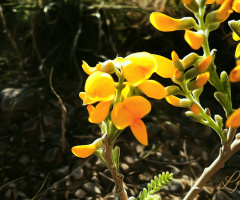
[[[61,107],[54,96],[41,90],[6,87],[1,99],[1,199],[118,199],[109,171],[96,156],[75,157],[74,145],[88,144],[101,136],[87,121],[86,108],[77,94],[67,108],[65,151],[62,151]],[[188,119],[184,110],[165,100],[152,101],[144,118],[149,145],[142,146],[126,129],[116,142],[121,149],[121,173],[129,196],[137,196],[162,172],[174,174],[162,199],[182,199],[203,169],[217,156],[219,138],[210,128]],[[234,155],[204,187],[197,199],[239,199],[240,191],[219,189],[221,181],[240,169],[240,152]],[[234,188],[237,182],[232,183]],[[239,189],[239,188],[238,188]]]

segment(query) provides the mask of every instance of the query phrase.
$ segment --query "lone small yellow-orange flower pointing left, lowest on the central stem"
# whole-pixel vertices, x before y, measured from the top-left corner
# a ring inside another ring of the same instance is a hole
[[[79,145],[72,148],[72,153],[80,158],[87,158],[92,155],[97,149],[103,146],[102,139],[99,138],[89,145]]]

